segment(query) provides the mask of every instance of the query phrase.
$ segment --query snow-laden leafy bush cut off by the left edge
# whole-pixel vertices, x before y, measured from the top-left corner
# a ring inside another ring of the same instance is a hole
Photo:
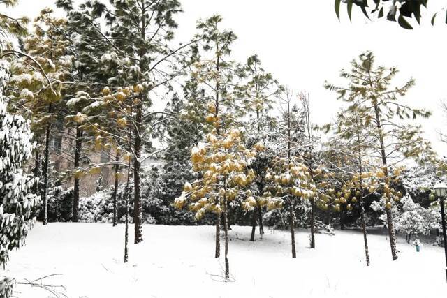
[[[7,110],[8,78],[9,64],[0,60],[0,265],[8,262],[8,251],[22,246],[40,200],[37,179],[23,170],[35,147],[33,134],[29,121]]]

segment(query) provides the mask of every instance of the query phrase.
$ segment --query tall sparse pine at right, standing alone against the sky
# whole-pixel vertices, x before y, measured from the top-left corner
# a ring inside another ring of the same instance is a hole
[[[349,110],[357,110],[362,115],[362,123],[368,126],[375,136],[372,143],[374,154],[381,156],[383,179],[389,185],[393,179],[393,167],[406,158],[420,155],[426,142],[420,137],[420,126],[401,124],[397,121],[429,117],[430,112],[411,108],[400,103],[399,97],[404,96],[414,85],[409,80],[402,87],[391,87],[397,68],[375,66],[372,52],[361,54],[351,62],[351,70],[342,70],[341,76],[349,80],[348,87],[336,87],[325,84],[326,89],[336,91],[338,98],[349,103]],[[396,237],[393,227],[393,215],[390,208],[393,201],[386,202],[386,216],[390,248],[393,260],[397,259]]]

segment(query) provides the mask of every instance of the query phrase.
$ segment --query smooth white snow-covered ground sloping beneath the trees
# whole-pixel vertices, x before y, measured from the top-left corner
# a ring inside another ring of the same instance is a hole
[[[443,248],[425,245],[416,253],[399,239],[399,259],[392,262],[386,236],[370,234],[372,265],[366,267],[358,231],[317,234],[314,250],[308,232],[298,231],[296,259],[288,232],[266,230],[256,242],[249,241],[250,232],[237,226],[230,231],[235,281],[229,283],[219,278],[223,243],[217,260],[212,226],[145,225],[145,241],[130,246],[124,265],[124,225],[37,223],[27,245],[11,253],[6,271],[19,281],[63,274],[45,283],[65,285],[71,298],[447,297]],[[17,297],[51,297],[24,285],[16,290]]]

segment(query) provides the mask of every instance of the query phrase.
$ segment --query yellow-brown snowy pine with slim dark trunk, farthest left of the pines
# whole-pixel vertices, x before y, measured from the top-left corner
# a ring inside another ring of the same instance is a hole
[[[71,65],[66,54],[67,41],[59,30],[65,26],[64,19],[52,17],[52,10],[47,8],[34,22],[34,33],[24,39],[24,49],[41,66],[46,77],[52,81],[45,86],[42,71],[35,70],[29,64],[29,56],[22,57],[22,61],[13,64],[14,76],[11,82],[21,89],[17,98],[22,98],[24,105],[32,112],[32,130],[36,134],[44,135],[44,153],[42,167],[42,203],[43,224],[47,224],[47,188],[50,169],[50,138],[57,117],[61,111],[61,84],[65,80],[67,67]],[[60,120],[59,120],[60,121]]]

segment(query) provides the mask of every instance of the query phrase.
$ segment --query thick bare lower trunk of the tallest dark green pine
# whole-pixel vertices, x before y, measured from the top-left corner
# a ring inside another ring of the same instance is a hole
[[[140,189],[140,156],[141,156],[141,135],[142,133],[142,103],[139,103],[136,111],[135,119],[135,145],[133,147],[135,156],[133,158],[133,183],[134,189],[134,202],[133,202],[133,224],[135,225],[135,244],[142,241],[142,207],[141,207],[141,189]]]

